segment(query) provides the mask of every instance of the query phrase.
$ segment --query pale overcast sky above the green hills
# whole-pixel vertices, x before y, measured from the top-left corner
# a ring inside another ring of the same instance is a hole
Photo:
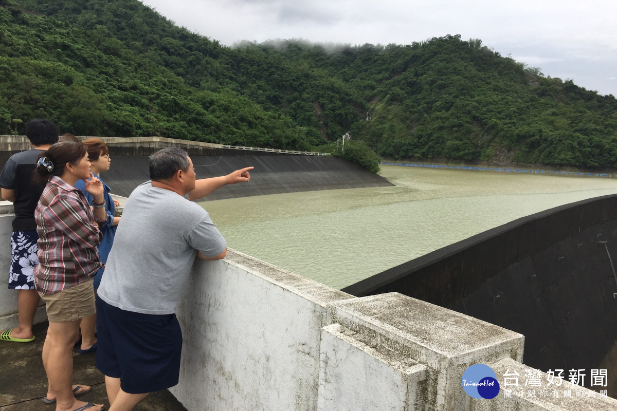
[[[484,46],[617,96],[616,0],[144,0],[177,25],[233,46],[241,40],[411,44],[479,38]]]

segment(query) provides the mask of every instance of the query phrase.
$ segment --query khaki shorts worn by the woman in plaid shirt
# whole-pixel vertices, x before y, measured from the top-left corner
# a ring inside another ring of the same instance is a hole
[[[81,320],[96,314],[93,279],[51,295],[42,295],[49,322]]]

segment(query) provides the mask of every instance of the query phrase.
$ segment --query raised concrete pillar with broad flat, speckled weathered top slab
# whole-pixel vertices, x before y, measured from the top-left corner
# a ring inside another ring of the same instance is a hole
[[[461,378],[470,365],[505,357],[523,360],[523,335],[399,293],[331,303],[328,323],[384,341],[426,365],[429,410],[468,408]]]

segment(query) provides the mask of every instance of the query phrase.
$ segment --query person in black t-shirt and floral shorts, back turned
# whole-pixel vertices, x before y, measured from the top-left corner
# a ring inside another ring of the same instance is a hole
[[[31,150],[12,155],[0,173],[0,193],[15,206],[13,234],[10,239],[11,262],[9,288],[17,290],[19,325],[0,333],[0,341],[28,343],[33,341],[32,322],[39,304],[33,268],[38,264],[36,252],[35,208],[45,184],[35,184],[32,172],[39,153],[58,141],[58,128],[49,120],[36,118],[26,124]]]

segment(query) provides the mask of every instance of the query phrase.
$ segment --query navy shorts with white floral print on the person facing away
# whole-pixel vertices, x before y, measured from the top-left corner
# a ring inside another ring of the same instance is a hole
[[[14,231],[10,237],[9,289],[35,290],[33,269],[38,265],[36,230]]]

